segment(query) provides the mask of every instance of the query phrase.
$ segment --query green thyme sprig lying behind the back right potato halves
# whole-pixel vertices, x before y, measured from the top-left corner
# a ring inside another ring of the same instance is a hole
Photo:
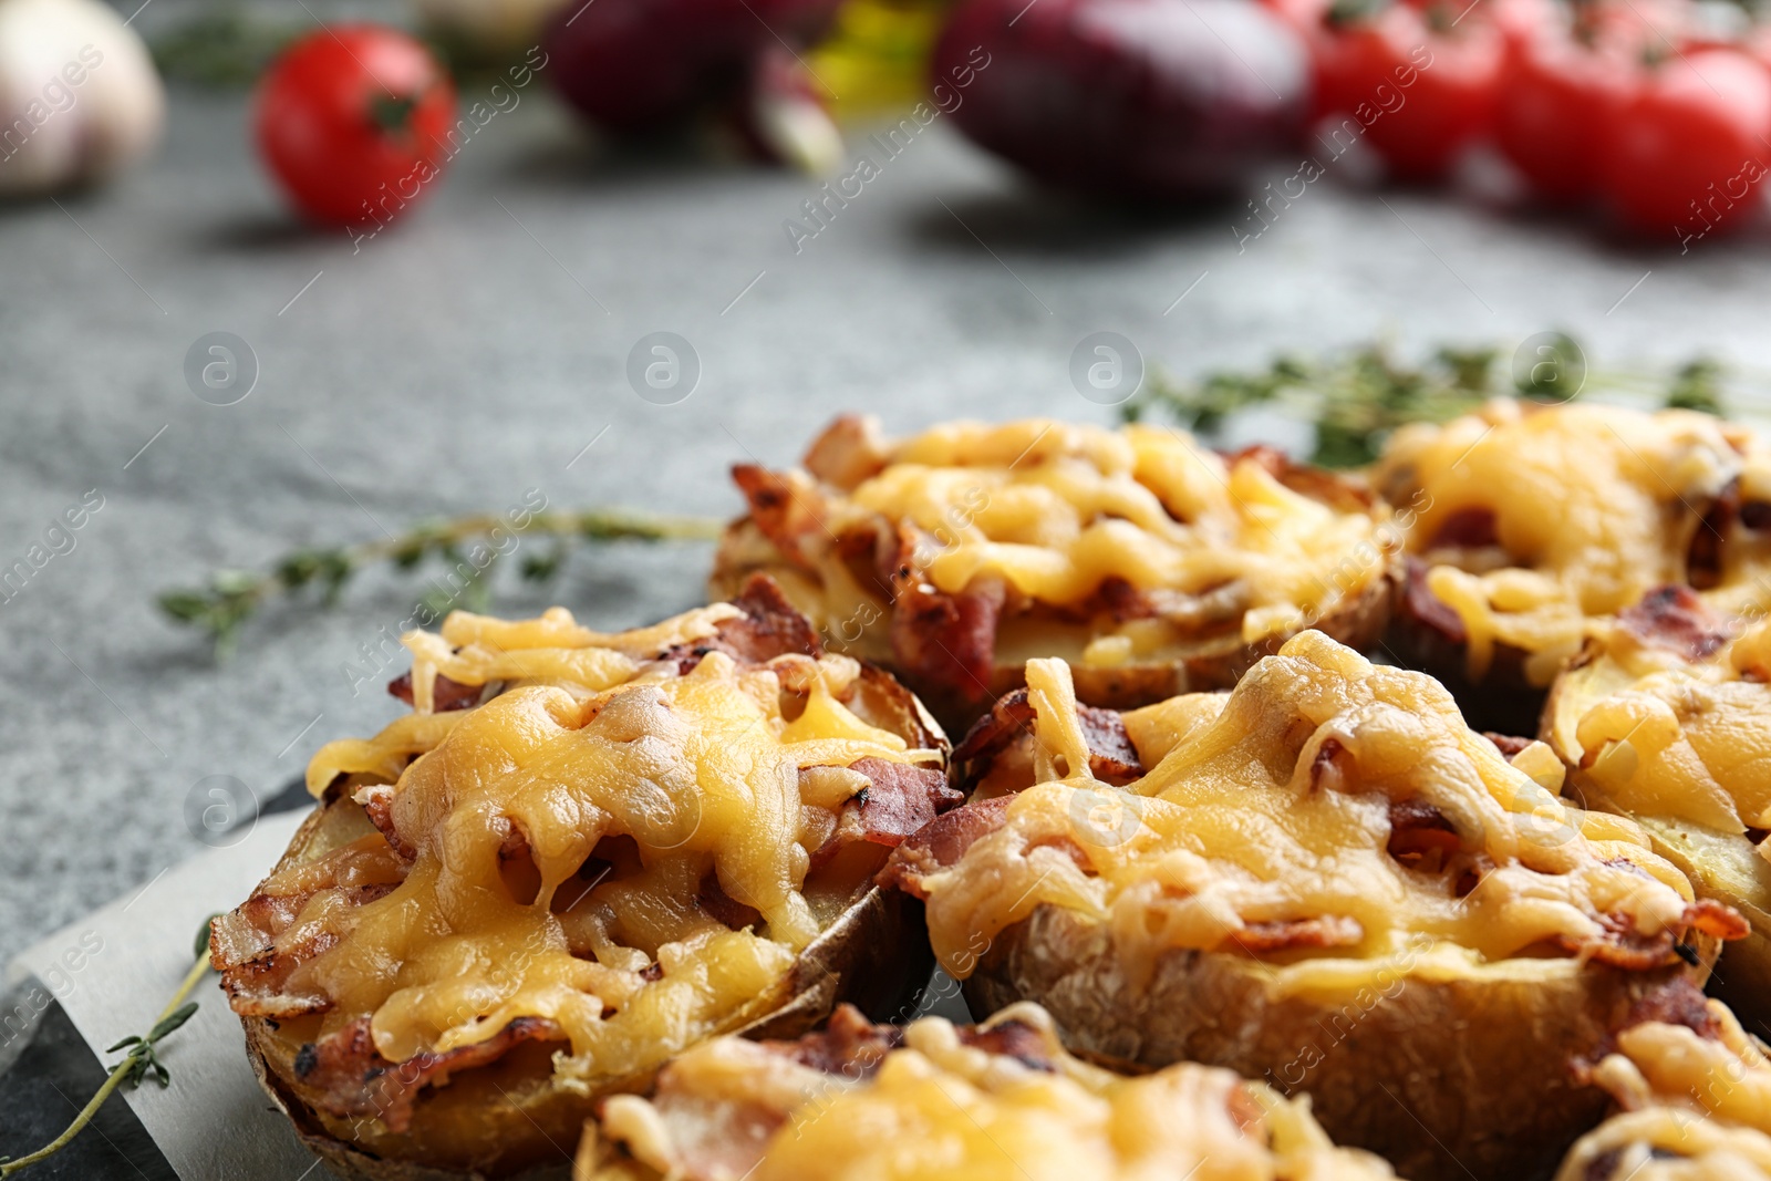
[[[1569,336],[1555,336],[1544,349],[1518,374],[1498,363],[1498,349],[1442,347],[1410,365],[1381,343],[1328,358],[1280,354],[1263,370],[1215,372],[1190,382],[1156,370],[1121,413],[1139,421],[1160,411],[1188,430],[1217,436],[1233,414],[1277,405],[1314,425],[1311,460],[1325,467],[1369,464],[1397,427],[1449,421],[1496,397],[1566,402],[1594,390],[1628,390],[1659,395],[1670,407],[1723,413],[1723,370],[1716,361],[1691,361],[1668,384],[1640,372],[1587,372]]]

